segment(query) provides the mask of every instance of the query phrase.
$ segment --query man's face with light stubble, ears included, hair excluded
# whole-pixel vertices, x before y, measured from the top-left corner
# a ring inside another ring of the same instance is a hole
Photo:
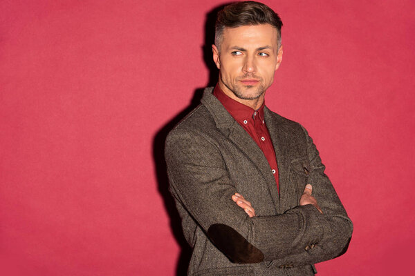
[[[226,95],[248,106],[262,103],[282,60],[277,36],[277,29],[270,24],[223,30],[219,49],[213,45],[212,50],[219,86]]]

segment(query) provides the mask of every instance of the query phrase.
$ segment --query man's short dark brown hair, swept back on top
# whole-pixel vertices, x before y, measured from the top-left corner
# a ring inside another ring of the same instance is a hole
[[[279,48],[281,46],[282,27],[282,21],[279,18],[279,15],[265,4],[255,1],[231,3],[218,12],[216,24],[214,26],[214,43],[217,48],[220,48],[223,30],[226,27],[237,28],[259,24],[270,24],[277,29],[277,45]]]

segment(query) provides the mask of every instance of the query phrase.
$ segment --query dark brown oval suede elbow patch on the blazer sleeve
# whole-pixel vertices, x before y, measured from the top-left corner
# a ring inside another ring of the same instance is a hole
[[[264,260],[261,250],[230,226],[212,224],[208,229],[208,237],[234,263],[252,264]]]

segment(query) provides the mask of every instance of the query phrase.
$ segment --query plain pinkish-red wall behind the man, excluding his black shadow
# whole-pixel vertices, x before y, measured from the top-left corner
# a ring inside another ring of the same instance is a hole
[[[318,275],[408,275],[414,1],[264,3],[284,22],[266,103],[306,126],[355,226]],[[0,2],[2,275],[183,273],[163,139],[212,82],[219,4]]]

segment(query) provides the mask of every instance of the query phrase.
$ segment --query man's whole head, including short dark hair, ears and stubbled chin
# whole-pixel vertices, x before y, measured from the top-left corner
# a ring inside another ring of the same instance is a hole
[[[226,95],[254,109],[282,61],[282,21],[262,3],[233,3],[218,14],[213,59]]]

